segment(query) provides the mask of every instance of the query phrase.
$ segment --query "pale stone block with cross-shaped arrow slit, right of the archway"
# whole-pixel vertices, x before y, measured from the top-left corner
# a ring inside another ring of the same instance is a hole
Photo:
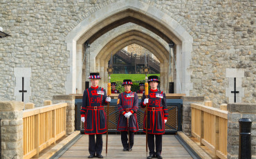
[[[242,88],[242,78],[244,77],[244,68],[226,68],[226,77],[228,78],[228,87],[226,88],[226,97],[228,97],[229,103],[234,103],[235,96],[231,91],[235,91],[235,80],[236,78],[236,102],[241,102],[241,97],[244,97],[244,88]]]

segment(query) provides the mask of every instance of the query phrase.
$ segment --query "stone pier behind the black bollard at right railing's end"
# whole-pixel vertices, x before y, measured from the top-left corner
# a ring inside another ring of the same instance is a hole
[[[249,118],[251,129],[251,153],[256,158],[256,104],[228,104],[228,159],[239,156],[239,119]]]

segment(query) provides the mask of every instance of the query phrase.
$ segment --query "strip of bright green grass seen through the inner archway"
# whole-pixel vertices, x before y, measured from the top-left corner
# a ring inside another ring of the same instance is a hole
[[[160,74],[148,74],[147,77],[150,75],[157,75]],[[142,81],[145,80],[145,74],[112,74],[111,75],[111,82],[122,81],[123,79],[131,79],[131,81]]]

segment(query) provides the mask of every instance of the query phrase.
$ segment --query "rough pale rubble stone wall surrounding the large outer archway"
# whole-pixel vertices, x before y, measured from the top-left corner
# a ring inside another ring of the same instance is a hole
[[[0,41],[0,100],[16,100],[14,68],[31,68],[30,102],[35,105],[65,94],[70,71],[66,35],[96,10],[118,1],[1,1],[0,24],[11,36]],[[214,106],[228,103],[226,68],[242,68],[241,102],[256,102],[254,1],[140,2],[167,13],[193,37],[190,95],[205,96]]]

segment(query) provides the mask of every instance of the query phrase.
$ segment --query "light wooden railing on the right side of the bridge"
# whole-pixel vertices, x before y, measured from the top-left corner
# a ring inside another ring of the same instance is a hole
[[[228,111],[191,104],[191,133],[215,158],[227,158]]]

